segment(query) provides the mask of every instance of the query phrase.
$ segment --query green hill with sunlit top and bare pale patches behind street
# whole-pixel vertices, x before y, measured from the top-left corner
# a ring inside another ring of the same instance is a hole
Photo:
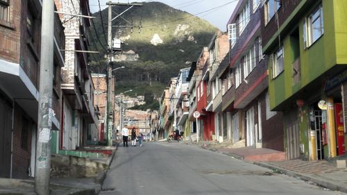
[[[113,6],[112,18],[127,8],[128,6]],[[92,28],[92,36],[94,40],[99,39],[103,47],[107,47],[107,37],[104,37],[103,32],[107,33],[108,9],[102,10],[101,15],[103,24],[100,13],[93,14],[96,17],[93,20],[97,32],[95,34]],[[158,2],[143,3],[142,6],[131,8],[115,19],[112,26],[112,37],[122,40],[122,52],[130,51],[130,54],[125,55],[129,58],[121,56],[124,59],[136,59],[113,62],[113,68],[126,67],[114,73],[117,78],[116,92],[133,87],[133,94],[137,95],[144,95],[144,92],[160,95],[169,79],[177,76],[179,69],[190,67],[190,62],[197,60],[203,46],[208,45],[217,31],[217,28],[203,19]],[[96,49],[100,51],[100,42],[95,42]],[[105,59],[105,53],[105,50],[100,51],[101,59]],[[90,69],[105,72],[107,61],[96,62],[98,59],[90,56]],[[141,90],[136,90],[139,86]]]

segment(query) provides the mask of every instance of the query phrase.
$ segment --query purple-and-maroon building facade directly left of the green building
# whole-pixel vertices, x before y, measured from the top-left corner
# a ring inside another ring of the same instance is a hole
[[[228,22],[230,65],[221,69],[223,119],[233,142],[283,151],[282,112],[269,109],[267,58],[262,55],[262,1],[239,1]],[[234,92],[234,96],[228,92]],[[224,99],[223,99],[224,100]],[[225,99],[227,100],[227,99]],[[233,100],[233,101],[232,101]]]

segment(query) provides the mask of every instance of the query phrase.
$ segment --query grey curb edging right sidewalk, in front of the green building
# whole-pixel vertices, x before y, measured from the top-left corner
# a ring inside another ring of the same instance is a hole
[[[260,167],[267,168],[267,169],[272,169],[274,171],[280,171],[280,173],[284,173],[287,176],[291,176],[291,177],[298,178],[298,179],[305,180],[305,181],[312,181],[316,185],[319,185],[321,187],[325,187],[326,189],[347,193],[347,187],[343,187],[343,184],[337,185],[337,184],[329,182],[327,180],[322,180],[321,178],[316,178],[316,177],[307,176],[307,175],[304,175],[301,173],[296,173],[294,171],[290,171],[288,169],[283,169],[281,167],[276,167],[276,166],[273,166],[271,164],[267,164],[264,162],[253,162],[253,164],[260,166]]]

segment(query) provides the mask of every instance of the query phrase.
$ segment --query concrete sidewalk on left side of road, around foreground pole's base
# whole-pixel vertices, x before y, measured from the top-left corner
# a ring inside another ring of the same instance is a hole
[[[108,158],[92,159],[97,162],[103,162],[110,167],[112,158],[117,150],[117,145]],[[101,185],[105,179],[107,170],[99,173],[97,177],[92,178],[51,178],[50,190],[51,195],[95,195],[101,191]],[[18,180],[9,178],[0,178],[0,195],[33,195],[34,192],[34,179]]]

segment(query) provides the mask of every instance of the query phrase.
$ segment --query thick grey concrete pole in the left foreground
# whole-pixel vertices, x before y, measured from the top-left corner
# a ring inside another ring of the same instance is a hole
[[[35,193],[49,194],[53,94],[54,1],[42,1],[40,99],[35,157]]]

